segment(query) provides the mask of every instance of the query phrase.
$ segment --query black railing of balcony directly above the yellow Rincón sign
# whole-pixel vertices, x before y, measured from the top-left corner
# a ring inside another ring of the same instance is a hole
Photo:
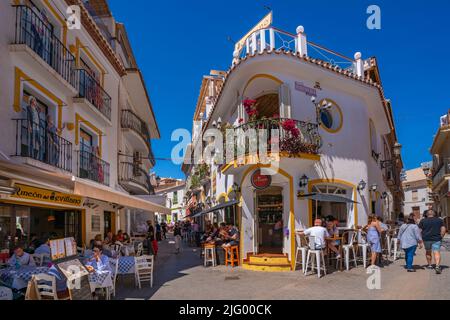
[[[59,136],[45,122],[15,119],[16,154],[72,172],[72,143]]]

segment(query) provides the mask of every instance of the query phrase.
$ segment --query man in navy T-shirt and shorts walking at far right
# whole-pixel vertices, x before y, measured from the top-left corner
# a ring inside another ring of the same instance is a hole
[[[428,210],[427,217],[420,221],[419,228],[422,230],[422,239],[425,243],[427,268],[433,269],[432,262],[434,256],[434,261],[436,262],[434,269],[436,274],[441,274],[441,245],[442,239],[447,232],[444,221],[436,217],[434,210]]]

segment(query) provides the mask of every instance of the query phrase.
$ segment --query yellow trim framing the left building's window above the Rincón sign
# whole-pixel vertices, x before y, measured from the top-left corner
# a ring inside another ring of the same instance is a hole
[[[58,108],[58,129],[62,130],[62,108],[63,101],[59,99],[55,94],[53,94],[50,90],[45,88],[36,80],[32,79],[26,73],[24,73],[20,68],[14,68],[14,111],[21,112],[22,108],[20,106],[20,101],[22,98],[22,81],[26,80],[27,83],[31,84],[38,91],[45,94],[50,100],[52,100]]]

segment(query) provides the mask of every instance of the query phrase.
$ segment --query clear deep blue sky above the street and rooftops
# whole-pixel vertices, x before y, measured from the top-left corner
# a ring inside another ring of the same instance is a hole
[[[170,158],[176,128],[191,130],[201,79],[211,69],[227,70],[234,45],[266,13],[274,26],[353,57],[378,58],[386,97],[392,100],[407,169],[429,161],[439,117],[450,108],[450,1],[148,1],[109,0],[126,25],[144,73],[161,140],[156,157]],[[366,27],[369,5],[381,8],[381,30]],[[163,177],[183,178],[179,166],[157,161]]]

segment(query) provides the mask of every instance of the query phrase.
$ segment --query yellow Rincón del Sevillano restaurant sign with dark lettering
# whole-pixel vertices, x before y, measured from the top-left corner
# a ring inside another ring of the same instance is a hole
[[[16,192],[11,195],[13,198],[43,201],[52,204],[81,206],[82,197],[57,191],[31,187],[16,183]]]

